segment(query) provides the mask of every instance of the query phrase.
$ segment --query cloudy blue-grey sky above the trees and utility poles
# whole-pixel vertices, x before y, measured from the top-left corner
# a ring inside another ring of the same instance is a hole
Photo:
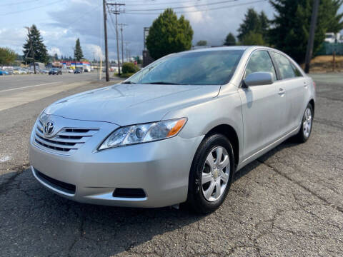
[[[108,2],[114,2],[108,0]],[[118,22],[124,27],[124,41],[131,55],[141,55],[143,29],[151,26],[161,12],[159,9],[174,7],[179,15],[189,19],[194,30],[193,44],[207,40],[211,45],[220,45],[225,36],[237,28],[247,9],[254,7],[264,11],[269,18],[274,10],[266,0],[126,0],[121,7],[124,13]],[[219,3],[220,4],[216,4]],[[154,11],[147,11],[153,9]],[[157,9],[157,10],[156,10]],[[144,10],[144,11],[134,11]],[[145,11],[146,10],[146,11]],[[341,11],[342,8],[341,8]],[[114,16],[108,16],[109,56],[116,58]],[[99,46],[104,54],[104,21],[102,0],[1,0],[0,46],[9,46],[22,54],[26,39],[25,26],[36,24],[41,31],[49,54],[73,56],[77,38],[81,41],[87,59],[99,59]]]

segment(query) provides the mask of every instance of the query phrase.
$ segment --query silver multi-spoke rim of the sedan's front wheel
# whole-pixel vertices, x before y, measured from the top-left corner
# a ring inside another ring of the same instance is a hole
[[[227,188],[230,176],[230,158],[222,146],[213,148],[202,168],[202,193],[207,201],[216,201]]]

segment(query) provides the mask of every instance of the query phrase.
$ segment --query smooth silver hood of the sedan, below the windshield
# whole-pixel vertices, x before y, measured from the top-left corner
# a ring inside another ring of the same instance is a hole
[[[44,112],[125,126],[159,121],[173,109],[214,98],[219,89],[219,85],[116,84],[61,99]]]

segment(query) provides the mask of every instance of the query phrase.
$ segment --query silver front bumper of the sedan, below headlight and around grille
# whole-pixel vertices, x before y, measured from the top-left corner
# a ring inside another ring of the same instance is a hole
[[[31,135],[29,158],[35,178],[46,188],[81,203],[110,206],[162,207],[187,200],[189,170],[203,136],[175,136],[162,141],[96,151],[99,143],[117,128],[114,124],[72,121],[58,117],[59,122],[76,127],[98,127],[99,132],[70,156],[51,153],[34,143]],[[64,121],[65,120],[65,121]],[[45,176],[76,187],[64,191]],[[114,197],[116,188],[141,188],[144,197]]]

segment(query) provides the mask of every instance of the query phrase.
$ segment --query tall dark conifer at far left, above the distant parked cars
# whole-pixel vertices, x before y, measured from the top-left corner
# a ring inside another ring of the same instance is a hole
[[[49,61],[48,50],[46,50],[41,33],[34,24],[29,30],[31,34],[32,48],[34,49],[34,60],[47,63]],[[29,34],[27,34],[26,43],[24,44],[23,48],[24,59],[26,56],[32,57]],[[27,63],[31,63],[33,59],[26,59],[26,61]]]

